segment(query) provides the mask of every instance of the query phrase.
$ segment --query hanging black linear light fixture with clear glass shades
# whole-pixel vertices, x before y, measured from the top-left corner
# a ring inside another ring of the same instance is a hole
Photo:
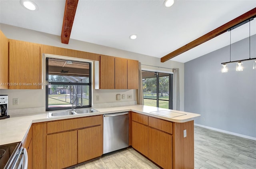
[[[229,62],[223,62],[221,63],[222,64],[222,70],[221,72],[222,73],[225,73],[225,72],[228,72],[228,63],[233,63],[233,62],[237,62],[236,63],[236,71],[240,72],[240,71],[243,71],[244,70],[244,67],[243,67],[243,62],[242,61],[247,61],[247,60],[255,60],[253,62],[253,69],[256,70],[256,58],[251,58],[251,36],[250,36],[250,21],[253,20],[253,18],[250,18],[244,22],[241,22],[240,24],[228,29],[227,31],[230,31],[230,61]],[[244,60],[236,60],[236,61],[231,61],[231,30],[243,25],[243,24],[246,24],[247,22],[249,22],[249,59],[244,59]]]

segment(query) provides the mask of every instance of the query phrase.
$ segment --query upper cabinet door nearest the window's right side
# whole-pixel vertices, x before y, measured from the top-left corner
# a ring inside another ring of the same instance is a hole
[[[100,56],[100,89],[115,88],[115,58]]]

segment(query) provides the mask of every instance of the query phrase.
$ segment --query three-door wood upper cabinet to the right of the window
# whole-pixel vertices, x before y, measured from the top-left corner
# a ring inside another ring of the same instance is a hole
[[[100,56],[100,89],[138,89],[138,61]]]

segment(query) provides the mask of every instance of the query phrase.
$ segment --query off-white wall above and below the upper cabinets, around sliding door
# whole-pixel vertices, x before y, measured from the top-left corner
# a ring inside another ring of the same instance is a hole
[[[159,66],[164,68],[179,68],[180,69],[180,109],[184,110],[184,64],[180,62],[167,61],[160,62],[160,58],[152,56],[146,56],[124,50],[118,50],[115,48],[109,48],[97,44],[91,44],[88,42],[82,42],[78,40],[70,39],[69,44],[62,44],[60,36],[10,26],[6,24],[0,24],[1,31],[9,39],[22,40],[26,42],[33,42],[38,44],[45,44],[50,46],[57,46],[61,48],[68,48],[73,50],[80,50],[85,52],[92,52],[97,54],[104,54],[109,56],[116,56],[120,58],[128,58],[138,60],[142,64]],[[45,68],[45,64],[43,65]],[[155,69],[156,67],[152,67]],[[156,68],[157,70],[157,68]],[[45,88],[44,89],[0,89],[1,94],[8,95],[9,108],[8,109],[20,109],[30,107],[45,107]],[[132,99],[123,99],[116,101],[116,94],[132,94]],[[96,101],[96,95],[100,96],[100,100]],[[106,102],[136,102],[136,90],[93,90],[93,103],[106,103]],[[12,105],[12,99],[19,98],[19,105]]]

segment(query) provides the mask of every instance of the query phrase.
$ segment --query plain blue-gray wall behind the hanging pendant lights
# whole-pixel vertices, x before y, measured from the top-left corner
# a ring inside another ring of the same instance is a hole
[[[256,137],[256,70],[254,60],[245,61],[244,71],[229,62],[229,46],[196,58],[184,66],[184,109],[201,114],[195,123]],[[249,38],[231,45],[231,60],[249,58]],[[251,58],[256,58],[256,36],[251,37]],[[205,121],[202,120],[205,118]]]

